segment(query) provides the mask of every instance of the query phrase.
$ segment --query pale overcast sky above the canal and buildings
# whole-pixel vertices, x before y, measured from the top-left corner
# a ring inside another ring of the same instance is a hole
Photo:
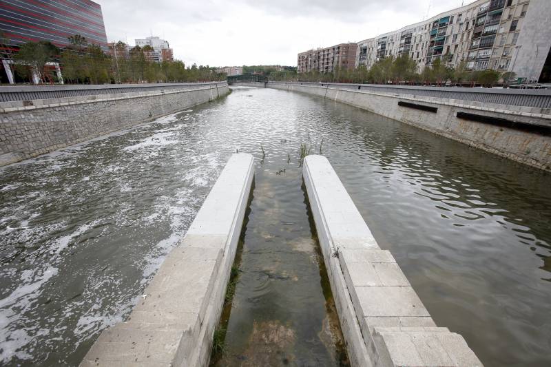
[[[150,34],[187,65],[296,65],[298,52],[357,42],[474,0],[95,0],[108,41]],[[430,8],[429,8],[430,7]]]

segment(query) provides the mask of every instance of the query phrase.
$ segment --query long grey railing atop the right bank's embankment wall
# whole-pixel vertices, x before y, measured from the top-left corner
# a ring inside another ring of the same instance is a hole
[[[423,87],[413,85],[377,85],[348,83],[269,82],[270,84],[313,85],[318,87],[360,90],[386,94],[407,94],[447,98],[477,103],[551,108],[551,90],[517,90],[500,88]]]

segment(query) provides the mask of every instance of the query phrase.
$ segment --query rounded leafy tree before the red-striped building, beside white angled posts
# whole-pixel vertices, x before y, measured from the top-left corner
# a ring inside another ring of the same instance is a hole
[[[46,75],[46,63],[56,54],[59,54],[59,50],[50,42],[28,42],[21,45],[14,59],[18,62],[18,70],[25,73],[29,72],[30,67],[37,74],[39,81],[43,82]]]

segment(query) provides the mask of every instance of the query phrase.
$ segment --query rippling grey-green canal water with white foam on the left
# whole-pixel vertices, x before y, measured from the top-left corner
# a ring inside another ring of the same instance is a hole
[[[301,144],[329,158],[438,325],[486,366],[551,364],[550,175],[355,107],[236,87],[0,168],[0,365],[79,364],[236,150],[256,157],[255,187],[215,364],[346,365]]]

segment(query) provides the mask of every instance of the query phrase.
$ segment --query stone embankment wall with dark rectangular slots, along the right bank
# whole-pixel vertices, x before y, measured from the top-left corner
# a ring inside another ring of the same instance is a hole
[[[346,85],[270,82],[267,87],[313,94],[360,107],[470,147],[551,171],[551,110],[548,108],[421,96],[415,95],[415,90],[411,90],[411,94],[374,92],[361,89],[361,85],[353,89]]]

